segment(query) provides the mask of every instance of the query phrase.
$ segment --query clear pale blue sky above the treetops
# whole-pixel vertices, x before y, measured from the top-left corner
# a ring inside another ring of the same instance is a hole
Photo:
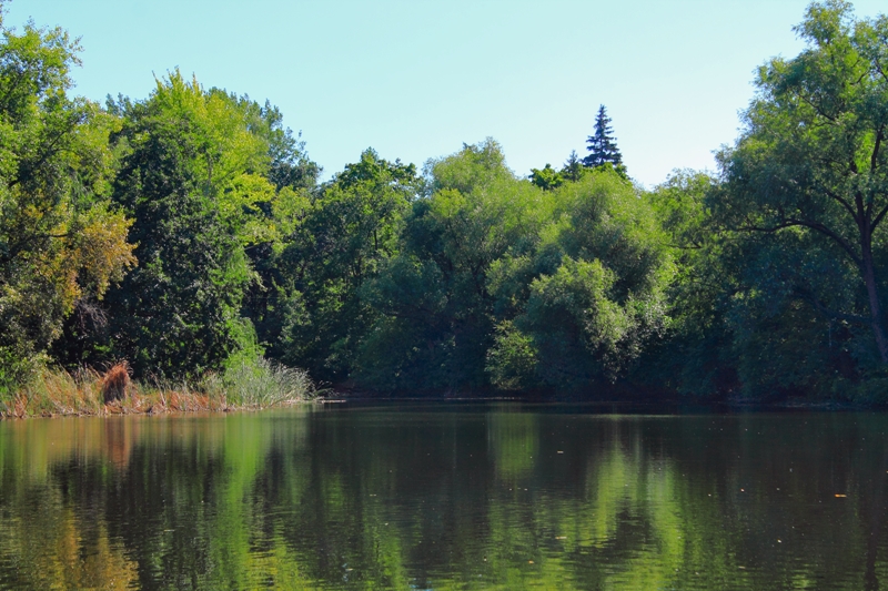
[[[585,153],[598,104],[629,174],[713,169],[806,0],[12,0],[80,37],[75,93],[145,98],[179,67],[280,106],[325,176],[367,146],[417,165],[486,136],[518,174]],[[885,0],[858,0],[859,17]]]

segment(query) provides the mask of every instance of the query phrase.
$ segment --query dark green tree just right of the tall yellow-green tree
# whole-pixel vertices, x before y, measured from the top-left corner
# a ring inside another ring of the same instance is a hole
[[[415,166],[366,150],[302,204],[273,262],[276,309],[260,333],[271,354],[319,379],[349,375],[375,316],[361,286],[396,254],[417,187]]]

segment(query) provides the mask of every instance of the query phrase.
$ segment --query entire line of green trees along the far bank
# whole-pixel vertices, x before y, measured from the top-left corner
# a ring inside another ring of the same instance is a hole
[[[270,103],[178,71],[70,98],[0,44],[0,393],[47,364],[194,379],[262,356],[363,391],[884,401],[888,19],[815,2],[717,174],[635,184],[602,108],[529,177],[486,140],[321,182]]]

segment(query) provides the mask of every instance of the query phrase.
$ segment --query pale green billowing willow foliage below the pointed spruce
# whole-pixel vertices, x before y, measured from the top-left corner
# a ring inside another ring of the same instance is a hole
[[[487,355],[501,387],[613,383],[669,322],[672,258],[632,186],[599,171],[553,202],[535,248],[490,274],[496,309],[509,320]]]

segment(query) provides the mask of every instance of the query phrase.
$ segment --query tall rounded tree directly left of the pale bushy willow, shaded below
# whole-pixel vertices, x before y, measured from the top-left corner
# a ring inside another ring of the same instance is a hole
[[[485,387],[494,334],[487,273],[538,240],[551,204],[514,176],[492,139],[431,161],[426,175],[431,194],[412,204],[400,252],[362,289],[379,316],[356,375],[380,389]]]

